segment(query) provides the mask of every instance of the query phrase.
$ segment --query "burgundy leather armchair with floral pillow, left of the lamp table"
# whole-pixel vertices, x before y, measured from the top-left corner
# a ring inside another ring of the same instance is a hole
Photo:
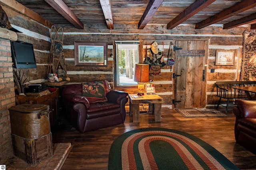
[[[83,86],[86,88],[82,90]],[[92,86],[81,83],[66,85],[62,91],[67,119],[81,133],[124,123],[128,93],[108,89],[106,101],[91,103],[89,98],[83,96],[87,90],[94,94],[99,88],[100,86],[95,83]]]

